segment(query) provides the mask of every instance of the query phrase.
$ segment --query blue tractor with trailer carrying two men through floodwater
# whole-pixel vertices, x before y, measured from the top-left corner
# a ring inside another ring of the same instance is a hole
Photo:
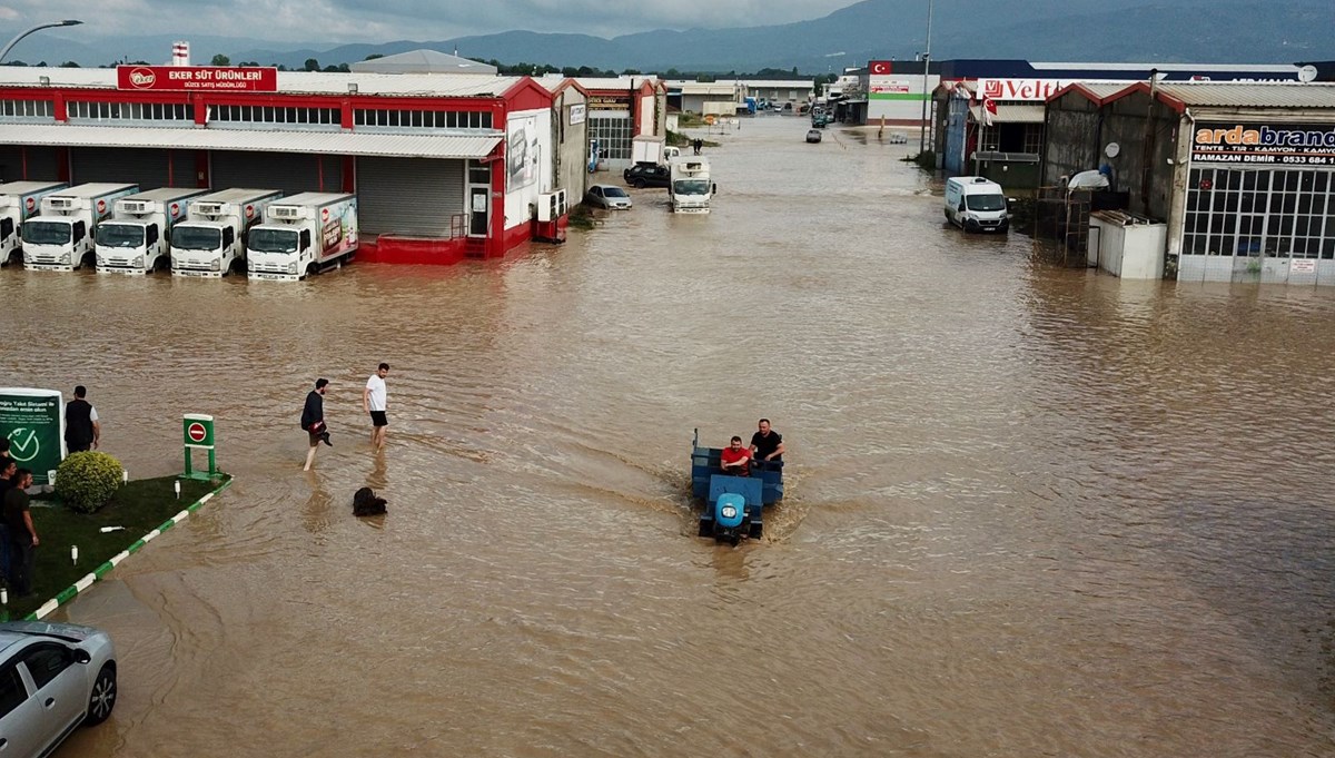
[[[724,474],[718,447],[701,447],[700,430],[692,442],[690,494],[705,500],[700,536],[737,544],[765,534],[764,511],[784,499],[784,464],[753,460],[750,476]]]

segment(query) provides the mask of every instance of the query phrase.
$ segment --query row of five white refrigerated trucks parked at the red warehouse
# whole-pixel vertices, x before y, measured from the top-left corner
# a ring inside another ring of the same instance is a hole
[[[355,195],[0,184],[0,264],[298,280],[342,266],[356,247]]]

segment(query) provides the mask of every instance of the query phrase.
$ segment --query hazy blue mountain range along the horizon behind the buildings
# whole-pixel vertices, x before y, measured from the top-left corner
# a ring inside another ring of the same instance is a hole
[[[1295,63],[1335,59],[1331,0],[934,0],[932,59],[1028,59],[1047,61]],[[980,7],[987,11],[980,12]],[[232,63],[300,68],[356,63],[370,55],[419,48],[507,64],[531,63],[622,71],[840,72],[872,59],[913,60],[926,48],[922,0],[862,0],[820,19],[726,29],[647,31],[613,39],[513,31],[438,41],[322,45],[315,41],[256,47],[219,36],[144,36],[75,41],[73,32],[25,43],[9,59],[49,65],[72,60],[164,63],[171,43],[191,41],[196,64],[215,53]],[[39,52],[40,51],[40,52]],[[39,57],[40,55],[40,57]]]

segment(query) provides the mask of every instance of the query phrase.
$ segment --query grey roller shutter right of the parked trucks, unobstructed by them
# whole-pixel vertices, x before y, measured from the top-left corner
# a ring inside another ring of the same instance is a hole
[[[362,234],[450,236],[463,214],[463,160],[356,159],[356,210]]]

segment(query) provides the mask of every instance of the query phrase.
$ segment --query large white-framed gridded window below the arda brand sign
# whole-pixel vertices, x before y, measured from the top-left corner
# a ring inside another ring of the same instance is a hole
[[[1330,171],[1192,168],[1187,255],[1335,259]]]

